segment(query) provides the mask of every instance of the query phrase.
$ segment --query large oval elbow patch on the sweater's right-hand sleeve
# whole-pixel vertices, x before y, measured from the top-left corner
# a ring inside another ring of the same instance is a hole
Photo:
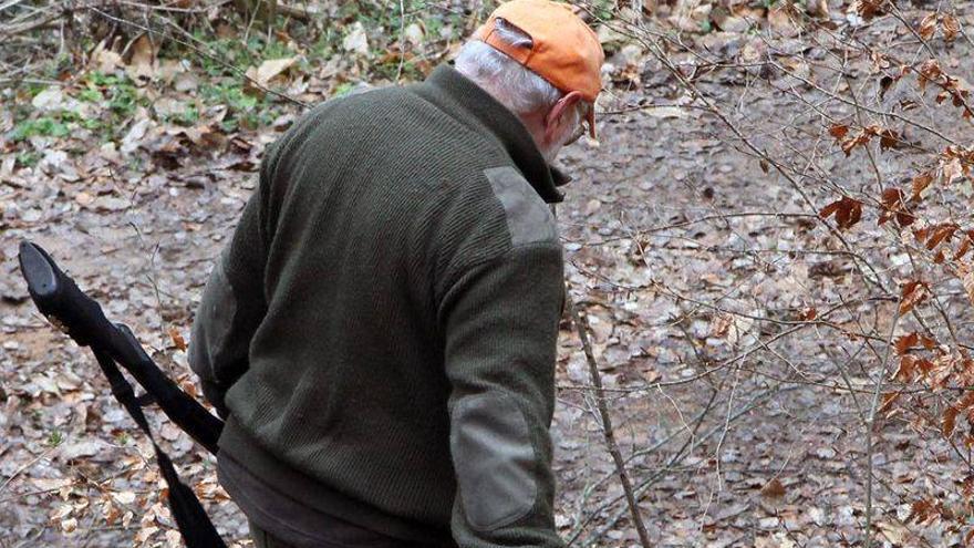
[[[450,449],[467,523],[489,531],[514,524],[535,507],[536,456],[528,423],[502,394],[456,403]]]

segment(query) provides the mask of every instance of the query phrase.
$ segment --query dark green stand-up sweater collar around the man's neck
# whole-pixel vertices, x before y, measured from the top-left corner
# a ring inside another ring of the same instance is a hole
[[[417,91],[462,123],[494,135],[546,203],[564,199],[556,186],[568,183],[569,178],[545,162],[521,121],[483,87],[444,64],[436,68]]]

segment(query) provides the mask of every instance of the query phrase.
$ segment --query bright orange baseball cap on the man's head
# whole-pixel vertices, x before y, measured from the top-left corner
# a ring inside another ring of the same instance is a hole
[[[498,19],[531,37],[531,48],[514,45],[495,33]],[[602,89],[601,68],[605,60],[594,31],[567,3],[549,0],[511,0],[494,10],[477,32],[488,43],[521,63],[558,90],[577,91],[594,105]],[[594,106],[589,108],[589,133],[595,136]]]

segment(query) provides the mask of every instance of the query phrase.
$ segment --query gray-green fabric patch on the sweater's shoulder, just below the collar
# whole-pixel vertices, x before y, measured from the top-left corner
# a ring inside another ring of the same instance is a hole
[[[555,216],[517,169],[510,166],[490,167],[484,169],[484,175],[504,206],[512,246],[558,241]]]

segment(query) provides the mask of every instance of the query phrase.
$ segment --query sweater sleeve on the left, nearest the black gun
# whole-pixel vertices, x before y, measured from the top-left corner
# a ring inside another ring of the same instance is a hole
[[[206,400],[224,418],[229,414],[224,397],[249,369],[250,340],[267,312],[261,197],[269,157],[261,166],[260,186],[214,265],[193,322],[189,368],[199,376]]]

